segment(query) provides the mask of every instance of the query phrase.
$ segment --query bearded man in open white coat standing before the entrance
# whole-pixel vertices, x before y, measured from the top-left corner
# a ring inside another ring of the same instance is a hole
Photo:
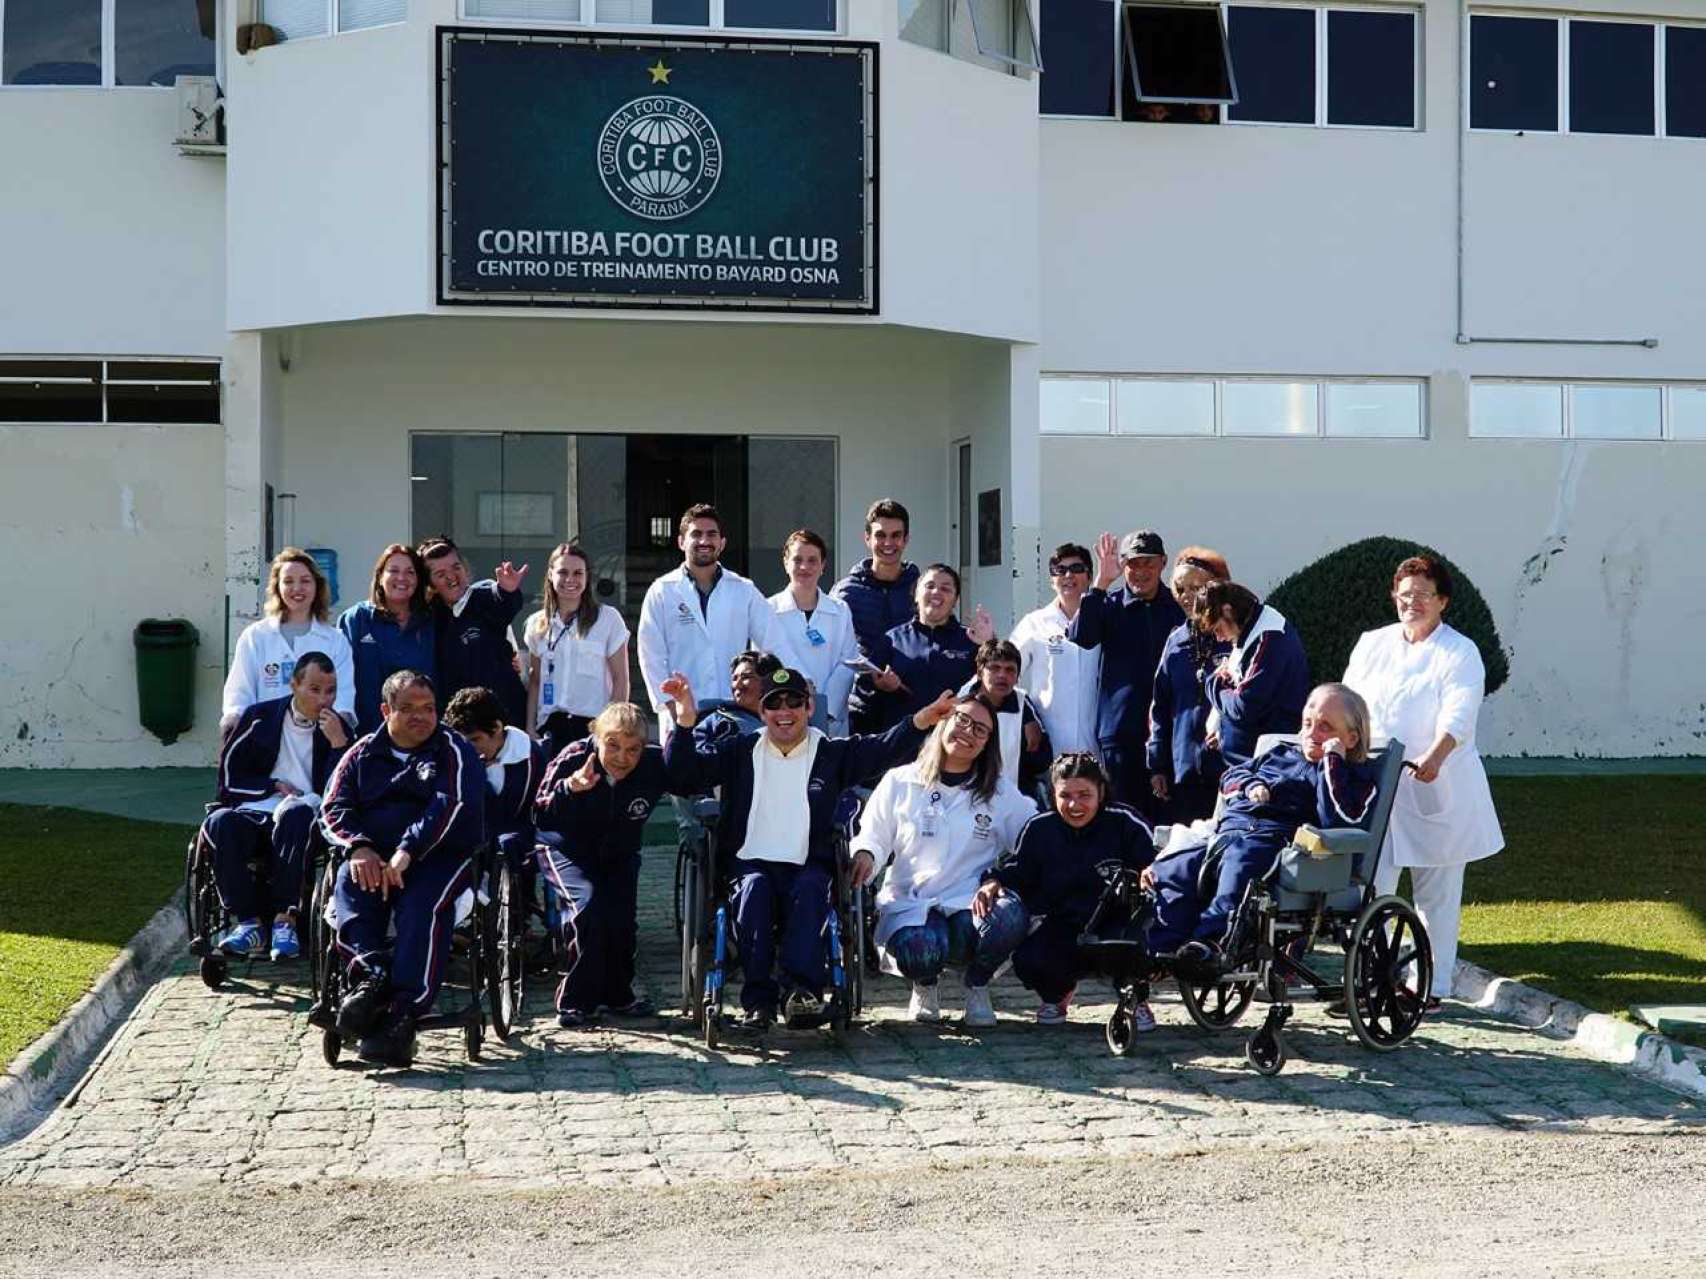
[[[705,699],[730,699],[728,663],[749,648],[769,651],[775,614],[757,587],[718,559],[728,539],[715,506],[689,506],[676,537],[682,564],[647,588],[640,605],[640,675],[664,733],[664,680],[686,675]]]

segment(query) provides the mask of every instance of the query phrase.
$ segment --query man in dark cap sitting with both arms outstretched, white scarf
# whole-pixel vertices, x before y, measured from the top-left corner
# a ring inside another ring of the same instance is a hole
[[[698,742],[691,732],[679,732],[698,721],[688,677],[677,672],[662,687],[677,728],[664,749],[670,788],[723,788],[717,834],[718,848],[735,861],[735,938],[746,972],[740,1008],[747,1027],[768,1028],[778,1001],[790,1025],[815,1025],[824,1011],[822,933],[836,873],[836,803],[860,778],[914,754],[921,733],[952,713],[954,694],[943,692],[885,733],[826,737],[810,726],[805,677],[783,667],[764,677],[761,733]],[[771,975],[778,916],[781,984]]]

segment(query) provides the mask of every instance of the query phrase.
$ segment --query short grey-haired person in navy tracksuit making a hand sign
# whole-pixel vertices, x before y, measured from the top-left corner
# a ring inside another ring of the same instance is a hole
[[[568,1028],[606,1010],[653,1011],[635,994],[635,912],[645,824],[667,786],[664,752],[645,737],[638,706],[606,706],[592,735],[551,761],[534,805],[539,870],[556,897],[563,946],[556,1020]]]

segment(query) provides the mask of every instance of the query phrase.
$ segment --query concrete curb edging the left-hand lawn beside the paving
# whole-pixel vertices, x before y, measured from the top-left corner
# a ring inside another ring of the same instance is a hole
[[[0,1144],[48,1117],[188,940],[183,902],[174,899],[155,911],[58,1025],[7,1066],[0,1078]]]

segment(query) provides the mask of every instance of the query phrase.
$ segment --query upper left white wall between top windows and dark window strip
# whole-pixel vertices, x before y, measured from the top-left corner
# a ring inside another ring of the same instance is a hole
[[[225,346],[225,164],[169,89],[0,89],[0,355]]]

